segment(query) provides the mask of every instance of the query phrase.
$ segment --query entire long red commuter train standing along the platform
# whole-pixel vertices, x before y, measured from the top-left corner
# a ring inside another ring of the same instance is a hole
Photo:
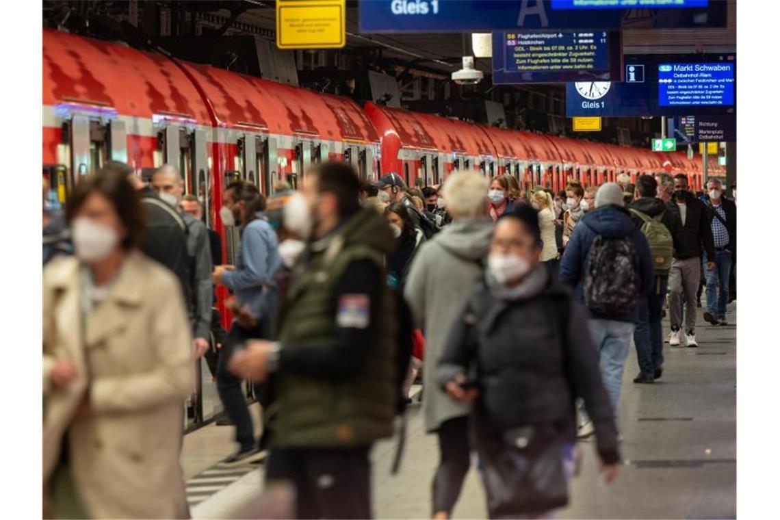
[[[701,187],[701,158],[499,129],[244,76],[137,51],[124,44],[43,32],[43,170],[64,203],[69,188],[105,161],[137,172],[177,164],[200,196],[207,225],[219,221],[222,188],[246,179],[268,194],[297,186],[308,166],[353,164],[363,179],[398,172],[410,185],[438,184],[456,168],[509,174],[521,185],[562,189],[660,172],[664,163]],[[725,175],[715,157],[711,175]],[[235,235],[225,236],[232,260]]]

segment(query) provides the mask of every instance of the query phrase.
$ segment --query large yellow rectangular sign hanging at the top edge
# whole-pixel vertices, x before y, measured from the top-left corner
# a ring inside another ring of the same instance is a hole
[[[280,49],[342,48],[345,0],[277,0],[276,46]]]

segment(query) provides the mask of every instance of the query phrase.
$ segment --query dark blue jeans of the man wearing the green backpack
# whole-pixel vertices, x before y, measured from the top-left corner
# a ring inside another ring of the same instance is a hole
[[[664,364],[664,338],[661,327],[661,310],[666,298],[668,277],[655,277],[655,287],[651,295],[640,298],[637,303],[639,318],[634,329],[634,346],[639,370],[647,376],[653,376],[655,369]]]

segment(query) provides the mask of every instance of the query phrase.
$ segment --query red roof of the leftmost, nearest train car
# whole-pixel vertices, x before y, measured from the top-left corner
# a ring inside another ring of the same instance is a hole
[[[43,101],[44,106],[87,105],[147,119],[167,115],[211,122],[192,82],[164,55],[47,29]]]

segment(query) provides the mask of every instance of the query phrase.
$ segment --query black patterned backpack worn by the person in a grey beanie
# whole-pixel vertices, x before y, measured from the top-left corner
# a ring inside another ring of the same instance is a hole
[[[628,237],[598,235],[590,246],[583,295],[588,309],[604,314],[626,313],[640,296],[639,255]]]

